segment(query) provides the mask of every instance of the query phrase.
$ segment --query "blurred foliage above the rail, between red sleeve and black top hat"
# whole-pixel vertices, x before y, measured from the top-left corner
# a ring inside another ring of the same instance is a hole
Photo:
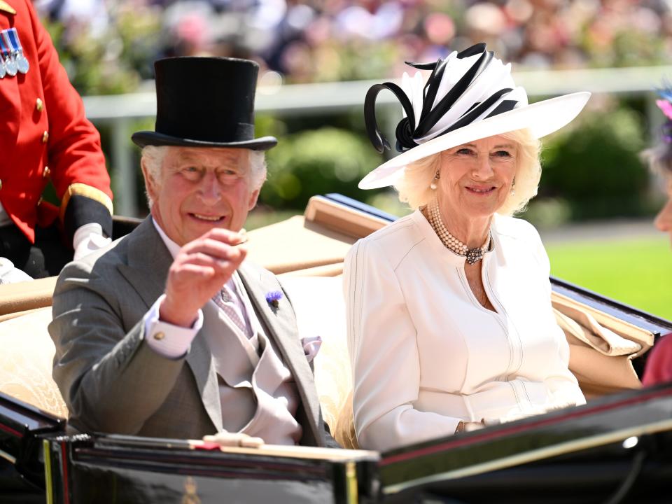
[[[102,33],[86,23],[43,20],[70,82],[80,94],[123,94],[152,77],[151,62],[160,48],[161,15],[157,8],[120,3],[110,12]]]

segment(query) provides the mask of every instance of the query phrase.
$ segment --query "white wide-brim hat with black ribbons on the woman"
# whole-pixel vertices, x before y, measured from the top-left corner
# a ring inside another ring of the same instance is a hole
[[[369,139],[380,153],[390,146],[375,120],[378,92],[391,90],[404,118],[396,129],[400,154],[367,174],[360,189],[392,186],[412,162],[470,141],[524,128],[535,138],[544,137],[570,123],[588,102],[589,92],[575,92],[528,104],[524,88],[513,82],[511,65],[485,47],[479,43],[433,64],[411,64],[433,70],[427,83],[420,72],[413,78],[404,73],[401,87],[384,83],[370,88],[364,116]]]

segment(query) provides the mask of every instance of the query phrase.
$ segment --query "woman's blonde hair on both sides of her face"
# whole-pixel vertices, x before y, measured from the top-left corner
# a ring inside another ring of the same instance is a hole
[[[539,155],[541,144],[530,130],[515,130],[501,135],[517,145],[517,169],[515,194],[508,195],[497,213],[513,215],[525,209],[526,204],[537,195],[541,179]],[[441,153],[417,160],[404,169],[394,188],[399,193],[399,200],[407,203],[412,209],[423,207],[434,197],[429,185],[439,168]]]

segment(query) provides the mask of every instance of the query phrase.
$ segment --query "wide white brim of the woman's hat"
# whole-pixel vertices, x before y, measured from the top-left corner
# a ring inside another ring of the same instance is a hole
[[[587,91],[565,94],[463,126],[384,162],[367,174],[358,186],[360,189],[393,186],[403,169],[412,162],[470,141],[526,128],[533,137],[539,139],[570,123],[582,111],[589,98],[590,93]]]

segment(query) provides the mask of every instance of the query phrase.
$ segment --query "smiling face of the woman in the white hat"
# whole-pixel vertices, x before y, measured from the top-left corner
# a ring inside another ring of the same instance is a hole
[[[488,137],[441,153],[437,188],[451,215],[490,217],[511,192],[518,148],[504,137]]]

